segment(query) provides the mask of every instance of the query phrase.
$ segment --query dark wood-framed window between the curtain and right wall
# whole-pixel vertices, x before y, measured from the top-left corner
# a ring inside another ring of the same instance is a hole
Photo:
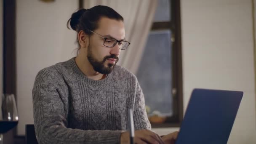
[[[152,127],[179,126],[183,118],[179,0],[158,0],[136,74]]]

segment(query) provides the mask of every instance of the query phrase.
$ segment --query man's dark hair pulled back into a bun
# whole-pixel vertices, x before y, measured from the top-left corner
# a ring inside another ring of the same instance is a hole
[[[67,21],[67,28],[69,29],[70,24],[73,30],[77,32],[83,30],[86,34],[91,35],[92,32],[90,30],[93,31],[99,27],[98,21],[101,17],[123,21],[123,17],[112,8],[97,5],[89,9],[82,8],[73,13],[71,18]],[[79,49],[80,48],[78,48],[77,53]]]

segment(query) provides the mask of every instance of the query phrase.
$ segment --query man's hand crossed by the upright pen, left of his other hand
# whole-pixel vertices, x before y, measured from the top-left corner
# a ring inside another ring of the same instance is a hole
[[[161,137],[152,131],[137,130],[134,132],[134,134],[135,144],[164,144]],[[121,133],[120,141],[121,144],[130,144],[130,134],[128,131]]]

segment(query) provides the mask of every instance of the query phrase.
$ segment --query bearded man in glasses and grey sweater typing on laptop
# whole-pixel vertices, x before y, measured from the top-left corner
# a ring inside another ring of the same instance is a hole
[[[34,123],[40,144],[129,143],[133,109],[137,144],[171,143],[150,131],[141,87],[116,65],[125,40],[123,17],[107,6],[81,9],[69,19],[77,31],[78,56],[42,69],[33,88]],[[132,58],[131,58],[132,59]]]

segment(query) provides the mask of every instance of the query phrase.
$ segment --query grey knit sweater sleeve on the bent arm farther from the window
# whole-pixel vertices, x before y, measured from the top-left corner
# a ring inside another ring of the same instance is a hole
[[[67,128],[67,112],[56,74],[41,70],[32,91],[34,125],[39,144],[119,144],[122,131],[84,131]]]

